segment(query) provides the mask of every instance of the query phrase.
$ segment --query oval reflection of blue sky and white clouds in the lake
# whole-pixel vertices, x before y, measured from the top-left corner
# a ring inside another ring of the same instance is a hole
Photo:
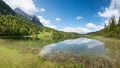
[[[40,52],[41,57],[64,55],[75,56],[104,56],[106,50],[103,43],[94,39],[70,39],[56,44],[44,46]],[[58,56],[59,57],[59,56]]]

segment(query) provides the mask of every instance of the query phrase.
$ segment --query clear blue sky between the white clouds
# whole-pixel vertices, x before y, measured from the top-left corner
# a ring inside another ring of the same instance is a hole
[[[46,9],[44,13],[36,13],[36,15],[49,19],[57,26],[57,29],[85,27],[91,22],[100,25],[103,21],[98,17],[97,12],[101,10],[101,7],[109,5],[109,1],[101,0],[38,0],[35,3],[36,6]],[[61,21],[56,21],[57,17]],[[77,17],[82,17],[82,19],[76,20]]]

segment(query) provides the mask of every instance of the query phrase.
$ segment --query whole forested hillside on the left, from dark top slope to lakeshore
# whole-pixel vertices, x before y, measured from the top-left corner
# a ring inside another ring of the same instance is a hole
[[[57,31],[48,27],[39,27],[29,19],[15,13],[0,0],[0,36],[32,36],[45,38],[75,38],[78,33]]]

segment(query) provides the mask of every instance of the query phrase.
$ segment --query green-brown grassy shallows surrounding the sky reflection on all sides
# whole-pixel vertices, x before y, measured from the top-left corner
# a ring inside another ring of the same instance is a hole
[[[102,36],[87,36],[100,40],[107,50],[105,57],[76,57],[64,55],[42,59],[43,46],[58,42],[53,40],[0,39],[0,68],[120,68],[120,40]]]

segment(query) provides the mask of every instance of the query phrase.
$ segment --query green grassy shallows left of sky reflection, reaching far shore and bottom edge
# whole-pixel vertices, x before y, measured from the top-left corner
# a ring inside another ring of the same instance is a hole
[[[56,63],[42,59],[39,51],[49,43],[41,42],[0,39],[0,68],[83,68],[81,63]]]

